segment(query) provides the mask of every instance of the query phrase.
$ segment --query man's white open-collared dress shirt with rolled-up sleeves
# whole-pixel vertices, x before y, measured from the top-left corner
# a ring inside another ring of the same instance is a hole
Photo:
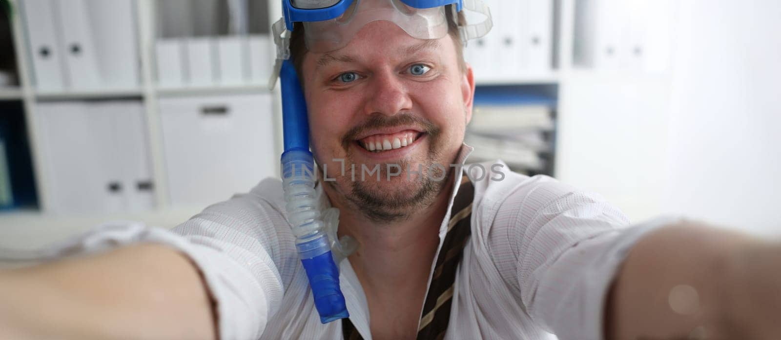
[[[464,145],[458,163],[471,151]],[[491,170],[490,164],[483,168]],[[480,170],[473,171],[472,236],[456,274],[445,338],[532,340],[550,338],[547,332],[562,340],[603,338],[604,303],[619,265],[640,236],[670,220],[624,228],[626,216],[597,194],[506,167],[498,182],[490,180],[498,174],[476,180]],[[440,246],[460,185],[455,183]],[[165,243],[187,254],[203,274],[223,340],[342,338],[341,321],[319,321],[286,216],[280,180],[265,179],[171,231],[106,225],[59,253]],[[361,284],[349,260],[339,267],[351,322],[370,339]]]

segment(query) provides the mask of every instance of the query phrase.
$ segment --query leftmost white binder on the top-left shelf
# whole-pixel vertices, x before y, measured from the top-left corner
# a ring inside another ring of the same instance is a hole
[[[59,29],[55,27],[55,2],[27,0],[21,3],[35,86],[41,91],[61,91],[65,88]]]

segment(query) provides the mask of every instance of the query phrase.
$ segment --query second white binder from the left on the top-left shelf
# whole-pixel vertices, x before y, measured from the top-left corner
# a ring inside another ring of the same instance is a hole
[[[60,48],[72,90],[95,90],[102,86],[88,5],[87,0],[57,2],[55,5],[62,32]]]

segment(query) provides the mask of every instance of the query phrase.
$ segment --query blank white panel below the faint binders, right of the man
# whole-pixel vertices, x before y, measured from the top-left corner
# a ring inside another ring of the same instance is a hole
[[[559,108],[555,176],[600,193],[633,221],[659,214],[669,77],[569,73]]]

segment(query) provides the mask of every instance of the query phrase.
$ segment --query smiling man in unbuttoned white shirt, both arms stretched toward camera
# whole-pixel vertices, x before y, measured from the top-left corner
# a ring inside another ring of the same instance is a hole
[[[360,244],[339,264],[349,319],[320,323],[280,182],[265,180],[173,233],[105,228],[70,251],[126,246],[2,272],[0,338],[781,335],[778,244],[686,221],[622,228],[615,207],[544,176],[465,177],[474,78],[448,20],[426,40],[371,21],[325,52],[302,27],[291,37],[318,189]],[[403,170],[354,180],[341,162]]]

